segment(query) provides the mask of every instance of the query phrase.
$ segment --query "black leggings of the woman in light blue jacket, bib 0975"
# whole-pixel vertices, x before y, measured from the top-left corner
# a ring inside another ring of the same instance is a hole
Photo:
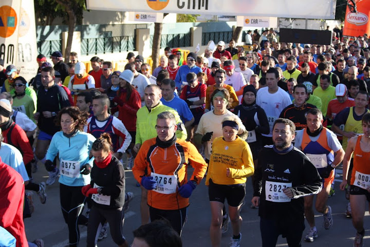
[[[69,247],[78,246],[80,240],[78,225],[87,224],[87,218],[81,214],[86,198],[82,195],[81,188],[82,186],[60,184],[60,201],[63,218],[68,225]]]

